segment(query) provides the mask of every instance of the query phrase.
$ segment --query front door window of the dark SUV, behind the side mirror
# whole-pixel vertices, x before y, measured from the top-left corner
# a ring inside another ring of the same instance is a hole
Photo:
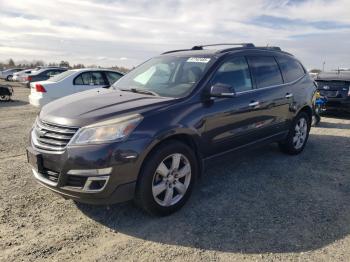
[[[212,80],[213,85],[218,83],[230,85],[236,92],[251,90],[253,87],[246,59],[236,57],[224,62]]]

